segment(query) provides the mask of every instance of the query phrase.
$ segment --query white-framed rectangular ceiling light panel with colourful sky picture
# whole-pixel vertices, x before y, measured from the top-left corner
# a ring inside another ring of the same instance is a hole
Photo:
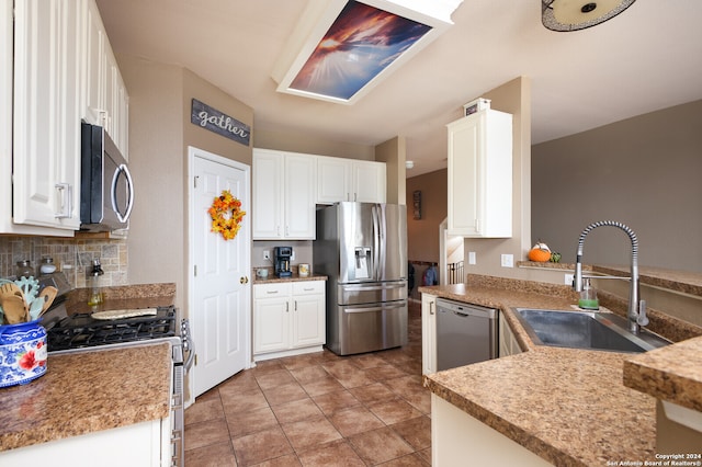
[[[352,104],[429,45],[463,0],[309,0],[274,66],[278,91]]]

